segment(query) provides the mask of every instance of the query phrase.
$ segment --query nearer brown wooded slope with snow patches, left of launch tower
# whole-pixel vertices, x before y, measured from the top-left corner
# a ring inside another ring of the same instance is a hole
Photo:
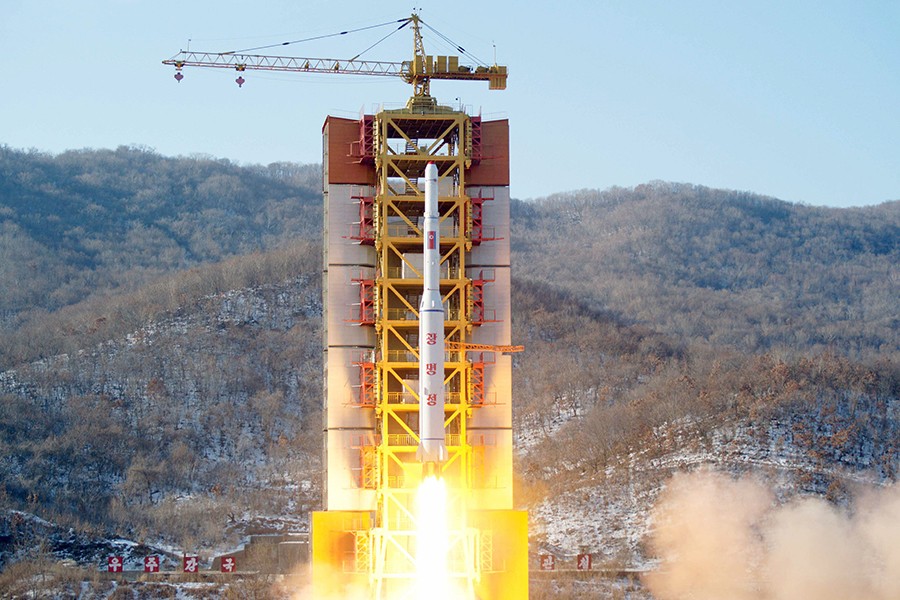
[[[0,497],[69,526],[203,547],[236,520],[309,510],[321,476],[313,251],[229,259],[57,316],[77,329],[91,310],[147,315],[0,373]]]

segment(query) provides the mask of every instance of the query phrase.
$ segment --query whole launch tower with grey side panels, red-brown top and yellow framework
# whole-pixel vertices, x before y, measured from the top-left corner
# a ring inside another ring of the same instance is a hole
[[[446,57],[427,60],[449,68]],[[339,595],[350,584],[381,598],[405,597],[415,577],[429,162],[438,167],[452,348],[441,467],[449,570],[479,598],[527,598],[527,515],[512,510],[511,359],[493,350],[511,342],[509,126],[429,96],[359,120],[329,117],[323,127],[328,475],[326,510],[313,515],[313,577],[318,590]]]

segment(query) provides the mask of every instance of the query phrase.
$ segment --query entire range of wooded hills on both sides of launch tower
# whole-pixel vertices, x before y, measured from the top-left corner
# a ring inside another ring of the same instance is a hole
[[[0,507],[208,549],[270,519],[304,528],[318,169],[139,148],[0,148],[0,165]],[[653,564],[650,505],[703,464],[840,506],[896,480],[900,202],[652,183],[514,201],[512,224],[535,548]]]

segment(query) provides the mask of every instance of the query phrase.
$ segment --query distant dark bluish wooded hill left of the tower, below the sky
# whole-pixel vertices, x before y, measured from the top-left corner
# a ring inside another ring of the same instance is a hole
[[[286,240],[315,240],[319,169],[148,149],[0,146],[0,327]]]

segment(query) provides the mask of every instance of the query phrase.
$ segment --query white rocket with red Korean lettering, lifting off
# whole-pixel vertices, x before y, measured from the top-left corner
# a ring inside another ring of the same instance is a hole
[[[441,233],[437,166],[425,167],[422,301],[419,303],[419,448],[425,473],[438,474],[444,444],[444,304],[441,301]]]

